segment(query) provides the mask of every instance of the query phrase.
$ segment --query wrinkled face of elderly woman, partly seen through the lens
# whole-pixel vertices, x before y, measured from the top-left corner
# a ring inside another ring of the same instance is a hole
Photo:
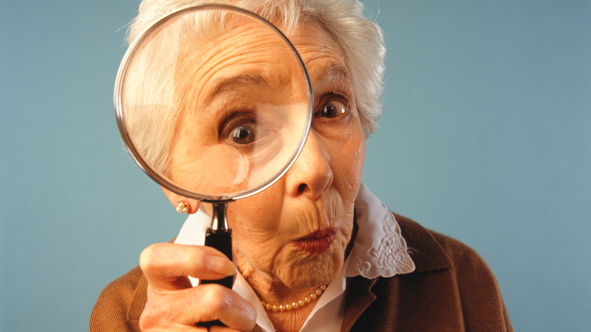
[[[297,149],[307,105],[301,71],[282,61],[292,57],[284,45],[252,33],[258,28],[241,30],[248,32],[241,36],[249,38],[248,50],[232,38],[211,43],[202,57],[212,61],[187,76],[191,89],[180,94],[187,106],[171,149],[174,181],[201,190],[220,183],[246,188],[274,174]],[[280,180],[229,204],[228,223],[243,274],[307,288],[330,282],[343,265],[365,138],[340,48],[311,23],[287,37],[313,86],[310,133]],[[206,162],[207,155],[218,161]]]

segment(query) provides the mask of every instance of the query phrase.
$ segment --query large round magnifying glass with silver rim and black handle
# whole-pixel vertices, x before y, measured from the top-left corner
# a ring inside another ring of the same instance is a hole
[[[228,203],[291,167],[310,130],[313,94],[296,48],[274,25],[232,6],[200,5],[161,18],[130,45],[115,110],[142,170],[212,204],[205,244],[232,260]],[[231,276],[213,282],[232,288]]]

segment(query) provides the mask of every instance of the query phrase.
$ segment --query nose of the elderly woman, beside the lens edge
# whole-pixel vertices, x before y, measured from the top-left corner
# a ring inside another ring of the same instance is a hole
[[[319,138],[319,134],[310,129],[304,148],[285,174],[287,193],[293,197],[317,200],[333,182],[330,154]]]

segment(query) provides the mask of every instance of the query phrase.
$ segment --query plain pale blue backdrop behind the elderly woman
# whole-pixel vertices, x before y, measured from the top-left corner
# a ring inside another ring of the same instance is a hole
[[[591,2],[381,1],[363,181],[475,248],[517,331],[591,330]],[[139,1],[0,0],[0,330],[82,331],[184,217],[125,154],[112,88]]]

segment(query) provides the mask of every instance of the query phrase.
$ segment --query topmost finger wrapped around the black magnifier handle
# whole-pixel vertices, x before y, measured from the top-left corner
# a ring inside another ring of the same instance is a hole
[[[182,289],[186,276],[216,280],[236,274],[236,265],[223,253],[208,246],[156,243],[142,251],[139,267],[155,289]]]

